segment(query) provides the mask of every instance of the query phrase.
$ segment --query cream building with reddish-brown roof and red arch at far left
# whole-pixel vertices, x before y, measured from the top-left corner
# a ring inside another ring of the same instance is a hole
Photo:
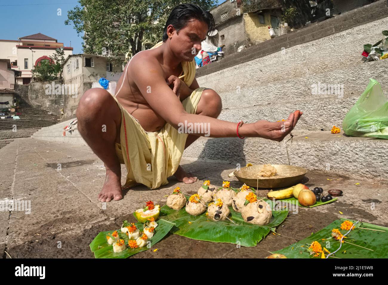
[[[57,39],[37,33],[18,40],[0,40],[0,58],[9,59],[11,69],[21,71],[16,84],[28,84],[32,79],[31,69],[41,60],[50,60],[57,48],[63,48],[64,58],[73,54],[72,47],[65,47]]]

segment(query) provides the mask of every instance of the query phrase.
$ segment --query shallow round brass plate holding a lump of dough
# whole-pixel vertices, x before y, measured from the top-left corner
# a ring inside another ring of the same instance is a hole
[[[257,176],[263,164],[243,167],[233,172],[237,179],[250,187],[258,184],[259,188],[280,188],[298,184],[307,173],[307,169],[288,164],[271,164],[276,168],[276,175],[271,177]]]

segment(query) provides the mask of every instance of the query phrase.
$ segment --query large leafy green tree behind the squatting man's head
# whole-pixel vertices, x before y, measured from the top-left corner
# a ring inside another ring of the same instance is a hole
[[[83,50],[88,54],[104,55],[121,64],[117,56],[132,56],[142,44],[161,40],[163,29],[173,7],[184,3],[177,0],[80,0],[80,6],[68,12],[66,25],[73,24],[78,35],[84,32]],[[215,0],[194,0],[210,10]]]

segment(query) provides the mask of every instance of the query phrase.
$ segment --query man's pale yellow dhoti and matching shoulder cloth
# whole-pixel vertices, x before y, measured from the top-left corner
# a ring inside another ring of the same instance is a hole
[[[195,64],[182,62],[181,65],[185,74],[182,80],[190,86],[195,77]],[[186,112],[196,113],[204,89],[197,88],[182,101]],[[124,187],[142,183],[150,189],[156,189],[166,185],[167,177],[172,176],[178,169],[187,133],[179,133],[169,123],[158,132],[147,132],[139,121],[120,105],[117,98],[113,98],[121,110],[120,143],[116,143],[116,154],[127,169]]]

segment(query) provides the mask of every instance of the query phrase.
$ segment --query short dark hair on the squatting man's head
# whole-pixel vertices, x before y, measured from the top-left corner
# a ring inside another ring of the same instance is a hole
[[[174,28],[179,31],[184,28],[191,19],[197,19],[208,24],[208,33],[215,29],[215,20],[210,12],[203,10],[198,5],[184,3],[172,9],[170,16],[168,16],[163,31],[163,42],[168,39],[167,27],[169,25],[173,25]]]

